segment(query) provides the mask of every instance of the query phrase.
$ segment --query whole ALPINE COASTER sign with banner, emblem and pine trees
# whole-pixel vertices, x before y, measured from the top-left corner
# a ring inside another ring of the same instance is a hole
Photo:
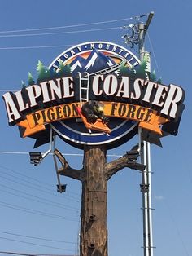
[[[64,51],[37,82],[3,95],[10,126],[22,137],[46,142],[50,126],[77,148],[105,143],[115,148],[138,126],[155,135],[177,135],[184,109],[180,86],[163,85],[132,52],[111,42],[86,42]]]

